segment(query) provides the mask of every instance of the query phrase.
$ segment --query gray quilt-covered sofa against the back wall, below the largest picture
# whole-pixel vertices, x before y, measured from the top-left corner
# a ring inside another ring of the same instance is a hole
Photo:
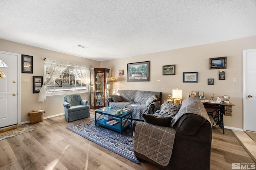
[[[158,105],[161,105],[162,101],[162,92],[118,90],[117,93],[120,96],[120,100],[116,102],[113,100],[115,95],[110,95],[112,97],[106,98],[106,106],[116,109],[131,109],[133,111],[132,118],[138,120],[143,120],[142,114],[153,114],[157,110]],[[156,100],[147,106],[147,101],[153,95],[156,96]]]

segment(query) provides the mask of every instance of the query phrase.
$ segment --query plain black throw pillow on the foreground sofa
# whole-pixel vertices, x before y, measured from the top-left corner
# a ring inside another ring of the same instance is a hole
[[[160,116],[160,115],[149,115],[149,114],[142,114],[144,121],[146,123],[150,123],[152,125],[170,127],[172,117]]]

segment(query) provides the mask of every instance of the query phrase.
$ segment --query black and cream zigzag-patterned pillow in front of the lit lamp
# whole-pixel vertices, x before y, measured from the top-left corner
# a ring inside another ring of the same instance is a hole
[[[180,103],[172,103],[172,102],[168,102],[168,100],[164,100],[164,105],[162,106],[159,115],[167,115],[174,118],[174,116],[180,110],[180,107],[181,107]]]

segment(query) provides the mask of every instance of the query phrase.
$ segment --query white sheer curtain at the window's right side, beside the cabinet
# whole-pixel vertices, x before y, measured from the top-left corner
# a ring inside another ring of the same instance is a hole
[[[74,64],[76,73],[79,78],[81,78],[82,82],[86,85],[90,84],[90,66],[83,64]]]

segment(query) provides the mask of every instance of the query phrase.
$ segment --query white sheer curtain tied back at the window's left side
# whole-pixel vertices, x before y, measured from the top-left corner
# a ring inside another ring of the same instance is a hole
[[[53,59],[46,59],[44,61],[44,66],[52,66],[54,69],[52,72],[48,72],[50,75],[50,78],[46,80],[41,87],[41,90],[39,92],[38,102],[44,102],[46,100],[46,86],[51,84],[58,78],[62,72],[68,67],[69,62],[67,61],[58,61]]]

